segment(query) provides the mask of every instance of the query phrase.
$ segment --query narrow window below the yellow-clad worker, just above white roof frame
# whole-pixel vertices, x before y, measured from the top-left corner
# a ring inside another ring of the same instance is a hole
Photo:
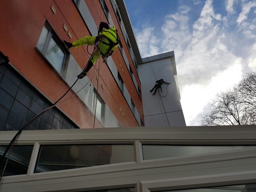
[[[96,109],[96,110],[95,110]],[[105,119],[105,102],[100,97],[96,89],[93,91],[93,111],[95,112],[96,117],[104,123]]]

